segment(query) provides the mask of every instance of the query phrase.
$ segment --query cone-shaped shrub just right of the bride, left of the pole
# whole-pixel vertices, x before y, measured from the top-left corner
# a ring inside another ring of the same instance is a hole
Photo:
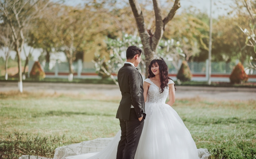
[[[192,78],[191,71],[189,69],[189,65],[186,61],[183,61],[181,64],[181,68],[179,69],[179,72],[177,74],[177,79],[181,81],[190,81]]]

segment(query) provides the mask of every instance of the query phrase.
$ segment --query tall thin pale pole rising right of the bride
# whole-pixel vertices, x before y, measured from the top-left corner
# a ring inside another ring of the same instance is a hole
[[[212,33],[213,33],[213,17],[212,17],[212,3],[213,1],[210,0],[210,35],[209,35],[209,66],[208,66],[208,84],[211,84],[211,45],[212,45]]]

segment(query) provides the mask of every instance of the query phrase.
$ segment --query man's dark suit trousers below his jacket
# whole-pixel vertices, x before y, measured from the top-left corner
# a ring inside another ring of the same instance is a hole
[[[139,121],[134,108],[131,108],[129,120],[119,121],[121,140],[117,147],[117,159],[134,159],[144,126],[144,117]]]

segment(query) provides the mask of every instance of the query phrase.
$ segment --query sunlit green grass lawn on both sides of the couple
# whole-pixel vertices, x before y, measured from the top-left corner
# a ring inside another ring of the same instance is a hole
[[[0,142],[13,132],[73,140],[67,144],[113,137],[120,99],[88,99],[85,95],[0,93]],[[239,144],[256,149],[256,101],[176,100],[173,108],[189,129],[197,148],[226,148],[239,158]]]

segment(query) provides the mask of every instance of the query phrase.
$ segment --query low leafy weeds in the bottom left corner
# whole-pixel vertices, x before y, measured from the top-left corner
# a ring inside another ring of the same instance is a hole
[[[53,158],[55,148],[64,146],[65,135],[33,137],[27,133],[14,132],[0,140],[0,159],[18,159],[22,155]]]

